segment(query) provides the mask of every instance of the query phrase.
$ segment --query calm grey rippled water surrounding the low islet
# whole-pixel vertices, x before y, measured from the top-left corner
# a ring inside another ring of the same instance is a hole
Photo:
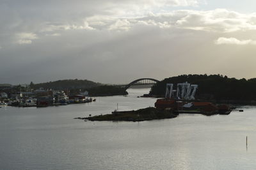
[[[147,91],[90,104],[0,108],[0,169],[255,169],[256,107],[140,123],[73,119],[109,113],[117,103],[123,111],[153,106],[156,99],[137,98]]]

